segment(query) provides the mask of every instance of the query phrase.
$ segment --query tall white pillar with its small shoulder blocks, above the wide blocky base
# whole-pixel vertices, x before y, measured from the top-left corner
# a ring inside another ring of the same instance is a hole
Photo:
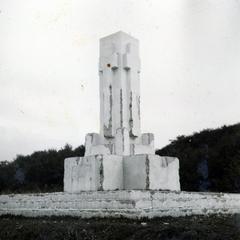
[[[134,146],[136,153],[154,153],[153,138],[142,143],[148,135],[140,129],[139,73],[137,39],[123,32],[100,39],[100,137],[94,136],[100,141],[86,138],[86,156],[134,155]]]

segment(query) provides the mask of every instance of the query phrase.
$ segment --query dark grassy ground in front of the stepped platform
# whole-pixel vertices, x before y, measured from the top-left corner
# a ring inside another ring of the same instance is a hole
[[[0,217],[0,240],[240,239],[240,215],[152,220]]]

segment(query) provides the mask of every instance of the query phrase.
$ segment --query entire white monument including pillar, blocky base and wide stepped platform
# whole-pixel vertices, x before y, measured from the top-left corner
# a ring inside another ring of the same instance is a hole
[[[0,195],[0,216],[240,214],[240,194],[179,191],[178,159],[155,155],[153,134],[141,134],[138,47],[123,32],[100,40],[101,129],[84,157],[65,159],[64,192]]]

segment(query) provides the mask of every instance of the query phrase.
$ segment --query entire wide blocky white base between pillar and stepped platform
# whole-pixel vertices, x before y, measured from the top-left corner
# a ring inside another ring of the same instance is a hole
[[[153,154],[65,159],[64,191],[180,190],[179,160]]]

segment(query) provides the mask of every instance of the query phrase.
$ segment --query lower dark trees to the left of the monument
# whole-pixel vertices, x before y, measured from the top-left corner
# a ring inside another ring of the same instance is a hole
[[[64,159],[83,156],[84,146],[17,155],[13,162],[0,162],[0,192],[52,192],[63,190]]]

